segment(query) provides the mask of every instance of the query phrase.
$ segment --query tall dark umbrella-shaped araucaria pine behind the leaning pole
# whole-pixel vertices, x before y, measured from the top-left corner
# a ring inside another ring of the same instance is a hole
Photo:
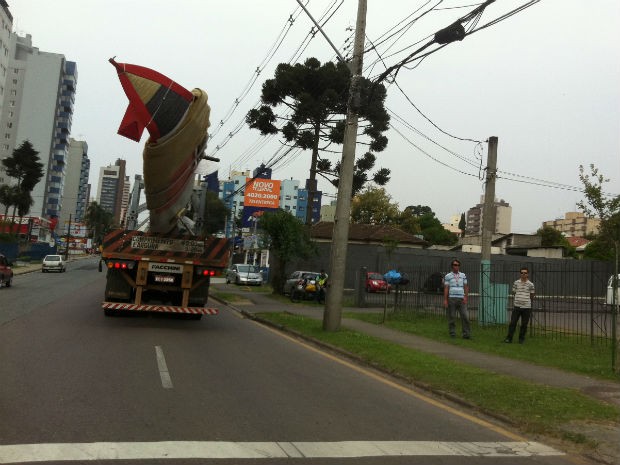
[[[281,133],[287,143],[303,150],[312,150],[310,174],[308,179],[308,205],[314,201],[317,173],[338,185],[340,165],[332,167],[331,161],[321,158],[332,144],[342,144],[344,140],[347,101],[351,73],[345,63],[334,64],[309,58],[304,64],[290,65],[280,63],[273,79],[263,84],[258,109],[250,110],[246,122],[261,134]],[[371,152],[380,152],[387,146],[383,133],[388,129],[389,115],[384,106],[386,91],[382,84],[375,85],[370,80],[361,80],[361,99],[358,115],[363,122],[360,128],[370,139],[370,151],[356,161],[354,173],[355,195],[368,180],[368,173],[374,167],[376,157]],[[291,113],[277,117],[272,108],[283,105]],[[281,127],[278,119],[286,121]],[[323,146],[321,145],[323,144]],[[382,168],[372,180],[378,185],[389,181],[390,171]],[[306,224],[311,224],[312,209],[309,208]]]

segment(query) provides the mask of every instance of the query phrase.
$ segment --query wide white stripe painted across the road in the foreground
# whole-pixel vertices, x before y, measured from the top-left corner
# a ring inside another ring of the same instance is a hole
[[[0,446],[0,463],[153,460],[359,458],[402,456],[543,457],[565,455],[537,442],[93,442]]]

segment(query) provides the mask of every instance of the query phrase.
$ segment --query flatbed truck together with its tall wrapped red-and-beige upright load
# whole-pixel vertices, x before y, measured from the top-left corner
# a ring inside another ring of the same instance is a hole
[[[148,230],[138,230],[137,214],[126,229],[108,233],[102,244],[107,269],[106,315],[123,311],[182,313],[199,319],[207,308],[211,277],[221,275],[230,254],[227,239],[193,235],[184,216],[193,195],[196,169],[206,157],[210,108],[207,93],[187,90],[149,68],[128,63],[116,68],[129,105],[118,133],[136,142],[144,129],[144,194]],[[132,193],[137,212],[142,183]]]

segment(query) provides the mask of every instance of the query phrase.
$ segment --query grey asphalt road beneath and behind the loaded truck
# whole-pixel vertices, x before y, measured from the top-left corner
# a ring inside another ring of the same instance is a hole
[[[223,306],[106,318],[104,283],[0,289],[0,463],[574,463]]]

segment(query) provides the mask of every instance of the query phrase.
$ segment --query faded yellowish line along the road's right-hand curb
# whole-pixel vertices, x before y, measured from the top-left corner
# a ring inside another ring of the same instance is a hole
[[[309,344],[307,342],[303,342],[302,340],[295,338],[293,336],[290,336],[288,334],[285,334],[275,328],[271,328],[269,326],[266,326],[258,321],[254,321],[257,325],[267,329],[268,331],[271,331],[274,334],[277,334],[280,337],[283,337],[285,339],[289,339],[290,341],[293,341],[305,348],[307,348],[308,350],[311,350],[313,352],[316,352],[319,355],[322,355],[323,357],[326,357],[336,363],[339,363],[340,365],[344,365],[346,367],[349,367],[350,369],[357,371],[358,373],[361,373],[365,376],[368,376],[369,378],[373,378],[376,381],[379,381],[380,383],[386,384],[388,386],[393,387],[394,389],[397,389],[409,396],[415,397],[417,399],[420,399],[428,404],[431,404],[435,407],[438,407],[446,412],[450,412],[453,415],[459,416],[461,418],[465,418],[473,423],[476,423],[477,425],[483,426],[486,429],[489,429],[491,431],[494,431],[498,434],[501,434],[502,436],[505,436],[509,439],[512,439],[513,441],[519,441],[519,442],[527,442],[527,438],[519,435],[519,434],[515,434],[512,431],[509,431],[505,428],[502,428],[501,426],[495,425],[489,421],[483,420],[482,418],[478,418],[475,417],[473,415],[470,415],[466,412],[463,412],[461,410],[457,410],[454,407],[450,407],[449,405],[440,402],[436,399],[433,399],[430,396],[424,395],[420,392],[416,392],[413,390],[413,388],[411,386],[405,386],[403,384],[399,384],[396,381],[392,381],[390,379],[385,378],[385,375],[380,375],[374,371],[371,371],[367,368],[361,367],[359,365],[356,365],[353,362],[349,362],[347,360],[345,360],[344,358],[340,358],[339,356],[336,355],[332,355],[329,352],[326,352],[324,349],[321,349],[320,347],[316,347],[312,344]]]

